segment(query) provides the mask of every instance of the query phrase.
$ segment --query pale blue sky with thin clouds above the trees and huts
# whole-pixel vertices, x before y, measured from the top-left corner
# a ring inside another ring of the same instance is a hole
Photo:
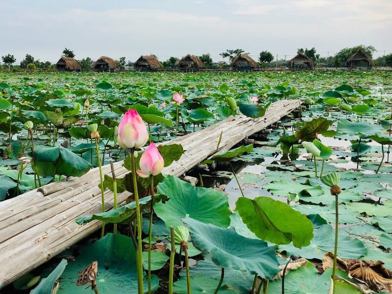
[[[297,48],[320,56],[373,45],[392,53],[392,0],[0,0],[0,56],[56,62],[101,55],[161,61],[242,48],[289,59]],[[328,53],[329,51],[329,53]]]

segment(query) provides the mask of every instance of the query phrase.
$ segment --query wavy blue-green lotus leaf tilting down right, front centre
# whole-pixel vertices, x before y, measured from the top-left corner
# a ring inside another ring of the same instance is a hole
[[[275,249],[267,243],[238,235],[233,228],[221,228],[185,218],[192,242],[221,268],[247,271],[270,279],[279,271]],[[241,244],[241,245],[240,245]]]

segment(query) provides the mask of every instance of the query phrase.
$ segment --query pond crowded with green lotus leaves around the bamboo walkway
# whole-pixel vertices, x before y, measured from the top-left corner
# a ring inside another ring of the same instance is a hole
[[[176,93],[185,100],[174,101]],[[334,293],[391,293],[390,71],[0,73],[0,200],[111,160],[140,169],[143,148],[135,158],[117,140],[128,109],[146,123],[148,141],[159,143],[230,115],[257,119],[279,99],[301,100],[299,116],[201,162],[187,173],[196,187],[162,174],[132,172],[116,185],[105,176],[105,189],[137,186],[139,195],[155,195],[141,196],[140,215],[130,199],[75,220],[105,221],[104,236],[71,247],[3,293],[52,293],[56,280],[57,293],[92,293],[91,284],[75,283],[93,261],[98,266],[86,270],[101,294],[275,294],[283,275],[286,293],[320,294],[335,274]],[[158,148],[165,166],[183,152],[170,146]]]

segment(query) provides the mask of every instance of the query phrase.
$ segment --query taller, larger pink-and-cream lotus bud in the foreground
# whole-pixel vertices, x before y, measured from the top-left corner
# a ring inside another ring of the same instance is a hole
[[[140,148],[146,144],[147,140],[148,132],[146,124],[136,109],[129,109],[119,124],[117,142],[120,147],[126,149]]]

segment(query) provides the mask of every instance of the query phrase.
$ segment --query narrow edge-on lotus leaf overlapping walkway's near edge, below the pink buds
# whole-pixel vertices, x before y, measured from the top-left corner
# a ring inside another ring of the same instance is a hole
[[[158,203],[159,201],[167,200],[167,196],[165,195],[155,195],[154,196],[154,203]],[[151,196],[143,197],[139,200],[140,210],[143,211],[146,207],[150,207],[151,203]],[[126,205],[123,205],[117,209],[112,209],[106,212],[100,212],[93,214],[91,216],[80,217],[76,219],[78,224],[90,222],[90,221],[105,221],[110,223],[120,223],[129,218],[133,217],[132,219],[136,218],[136,202],[130,202]]]

